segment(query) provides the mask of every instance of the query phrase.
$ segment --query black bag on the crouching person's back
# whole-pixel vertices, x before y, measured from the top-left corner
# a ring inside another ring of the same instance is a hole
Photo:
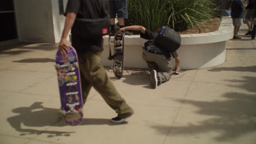
[[[162,26],[154,45],[168,52],[176,51],[181,46],[181,35],[168,26]]]

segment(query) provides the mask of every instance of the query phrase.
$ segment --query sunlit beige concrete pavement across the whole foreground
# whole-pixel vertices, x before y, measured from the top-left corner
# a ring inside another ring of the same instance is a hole
[[[135,110],[127,122],[92,89],[84,122],[66,125],[60,115],[53,65],[57,44],[14,44],[0,50],[0,143],[256,143],[256,40],[229,40],[226,62],[183,71],[150,89],[148,71],[127,69],[115,79]],[[182,58],[181,58],[182,60]]]

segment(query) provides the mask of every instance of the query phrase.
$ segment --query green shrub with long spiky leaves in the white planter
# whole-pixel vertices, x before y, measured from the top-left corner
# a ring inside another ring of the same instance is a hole
[[[151,31],[168,25],[184,31],[216,16],[213,0],[127,0],[127,25],[142,25]]]

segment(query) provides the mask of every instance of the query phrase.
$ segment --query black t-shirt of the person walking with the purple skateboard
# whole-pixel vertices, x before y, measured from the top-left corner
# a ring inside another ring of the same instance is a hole
[[[109,11],[107,0],[68,0],[65,15],[72,12],[80,19],[96,19],[106,16],[104,10]],[[103,39],[83,39],[72,33],[72,46],[77,52],[102,51]]]

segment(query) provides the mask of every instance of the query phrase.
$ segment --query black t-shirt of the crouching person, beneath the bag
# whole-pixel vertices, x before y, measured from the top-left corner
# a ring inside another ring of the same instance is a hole
[[[148,39],[148,41],[146,41],[146,43],[144,43],[144,46],[148,46],[148,45],[154,45],[154,40],[156,37],[158,37],[158,32],[152,32],[149,31],[148,29],[146,29],[145,33],[141,32],[141,38],[143,39]],[[161,49],[161,47],[159,47],[159,49],[162,51],[162,53],[164,53],[166,58],[170,58],[170,52],[166,51],[165,49]]]

